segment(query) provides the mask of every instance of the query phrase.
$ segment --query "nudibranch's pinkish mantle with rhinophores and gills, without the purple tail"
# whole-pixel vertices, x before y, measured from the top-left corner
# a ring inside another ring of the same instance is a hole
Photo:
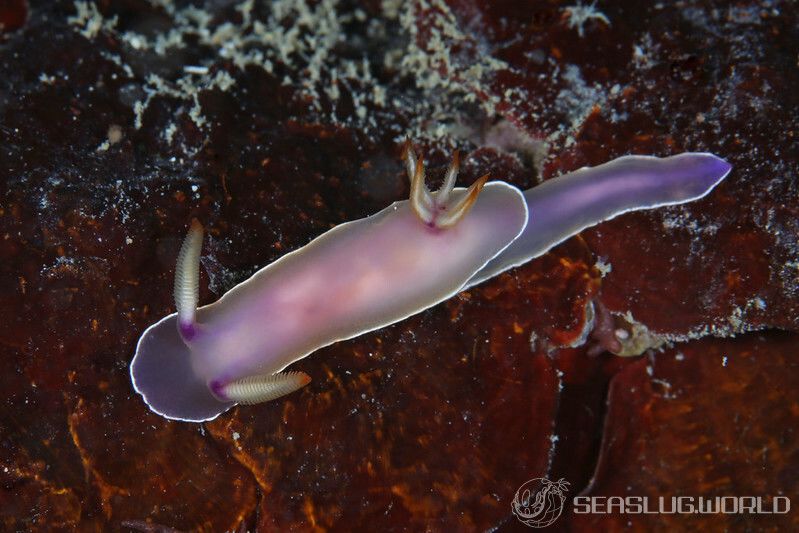
[[[410,146],[405,160],[409,200],[334,227],[199,309],[193,222],[178,255],[177,313],[144,332],[131,363],[150,409],[199,422],[288,394],[310,381],[288,365],[450,298],[527,225],[516,187],[487,176],[454,187],[457,154],[435,193]]]

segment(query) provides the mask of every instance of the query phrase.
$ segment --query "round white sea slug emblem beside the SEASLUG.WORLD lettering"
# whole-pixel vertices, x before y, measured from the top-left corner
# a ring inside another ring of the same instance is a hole
[[[513,496],[511,509],[525,525],[547,527],[563,512],[568,490],[569,482],[563,478],[553,482],[537,477],[519,487]]]

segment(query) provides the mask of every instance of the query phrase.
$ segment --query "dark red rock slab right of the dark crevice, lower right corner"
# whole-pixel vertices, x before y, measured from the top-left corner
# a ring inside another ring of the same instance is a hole
[[[613,378],[602,447],[584,496],[795,499],[799,338],[751,334],[693,342],[643,358]],[[710,392],[709,392],[710,391]],[[792,502],[793,504],[793,502]],[[728,503],[730,509],[732,503]],[[783,508],[784,510],[784,508]],[[576,530],[780,530],[786,514],[570,515]]]

